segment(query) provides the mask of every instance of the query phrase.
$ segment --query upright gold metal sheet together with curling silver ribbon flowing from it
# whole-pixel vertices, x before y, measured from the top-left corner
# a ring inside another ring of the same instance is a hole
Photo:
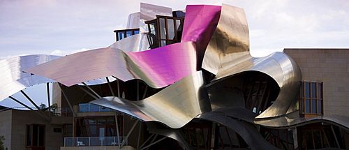
[[[242,8],[223,4],[202,68],[216,75],[212,82],[248,70],[260,71],[276,80],[280,87],[279,96],[258,118],[276,117],[298,109],[295,104],[302,75],[297,63],[281,52],[267,57],[251,57],[248,26]]]

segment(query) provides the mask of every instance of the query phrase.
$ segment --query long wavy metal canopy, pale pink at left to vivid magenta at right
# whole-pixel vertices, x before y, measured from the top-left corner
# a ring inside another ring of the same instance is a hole
[[[67,87],[114,76],[140,79],[150,87],[168,86],[196,71],[195,43],[175,43],[144,52],[124,52],[112,47],[70,54],[24,70],[48,77]]]

